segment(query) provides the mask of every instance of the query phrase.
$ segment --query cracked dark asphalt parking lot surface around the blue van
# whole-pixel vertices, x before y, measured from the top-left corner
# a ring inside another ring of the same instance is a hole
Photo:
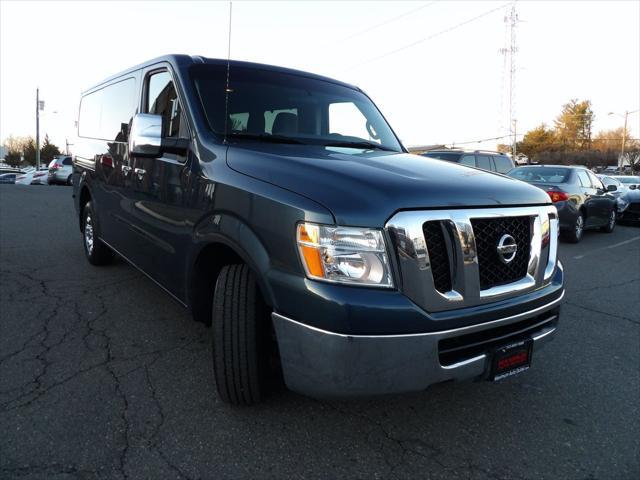
[[[0,185],[0,478],[640,478],[640,228],[560,257],[559,333],[522,375],[234,408],[206,327],[85,261],[70,188]]]

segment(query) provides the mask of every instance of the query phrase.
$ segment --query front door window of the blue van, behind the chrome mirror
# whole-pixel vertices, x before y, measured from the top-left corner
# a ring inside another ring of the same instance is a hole
[[[163,137],[186,137],[182,108],[169,72],[154,73],[147,86],[146,113],[162,116]]]

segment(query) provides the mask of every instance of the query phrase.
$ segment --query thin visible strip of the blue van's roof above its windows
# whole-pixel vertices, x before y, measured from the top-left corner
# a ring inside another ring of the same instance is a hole
[[[151,65],[154,65],[156,63],[161,63],[161,62],[167,62],[170,63],[174,68],[176,69],[181,69],[181,68],[186,68],[190,65],[197,65],[197,64],[204,64],[204,65],[226,65],[227,64],[227,60],[225,59],[220,59],[220,58],[207,58],[207,57],[201,57],[198,55],[184,55],[184,54],[171,54],[171,55],[163,55],[161,57],[156,57],[154,59],[148,60],[146,62],[140,63],[134,67],[128,68],[126,70],[123,70],[115,75],[111,75],[107,78],[105,78],[104,80],[100,81],[99,83],[96,83],[95,85],[93,85],[91,88],[87,88],[86,90],[84,90],[82,92],[82,94],[84,95],[85,93],[90,92],[91,90],[94,90],[102,85],[104,85],[105,83],[109,83],[112,80],[115,80],[117,78],[120,78],[128,73],[132,73],[138,70],[141,70],[143,68],[147,68]],[[352,88],[354,90],[359,90],[360,89],[358,87],[356,87],[355,85],[351,85],[345,82],[341,82],[339,80],[335,80],[333,78],[329,78],[329,77],[325,77],[322,75],[317,75],[315,73],[309,73],[309,72],[305,72],[302,70],[295,70],[292,68],[286,68],[286,67],[278,67],[275,65],[267,65],[267,64],[263,64],[263,63],[254,63],[254,62],[244,62],[241,60],[230,60],[229,61],[229,65],[230,67],[233,69],[234,66],[236,67],[247,67],[247,68],[255,68],[255,69],[260,69],[260,70],[271,70],[271,71],[276,71],[276,72],[282,72],[282,73],[289,73],[292,75],[301,75],[301,76],[305,76],[305,77],[309,77],[309,78],[315,78],[317,80],[324,80],[327,82],[332,82],[332,83],[336,83],[338,85],[342,85],[348,88]]]

